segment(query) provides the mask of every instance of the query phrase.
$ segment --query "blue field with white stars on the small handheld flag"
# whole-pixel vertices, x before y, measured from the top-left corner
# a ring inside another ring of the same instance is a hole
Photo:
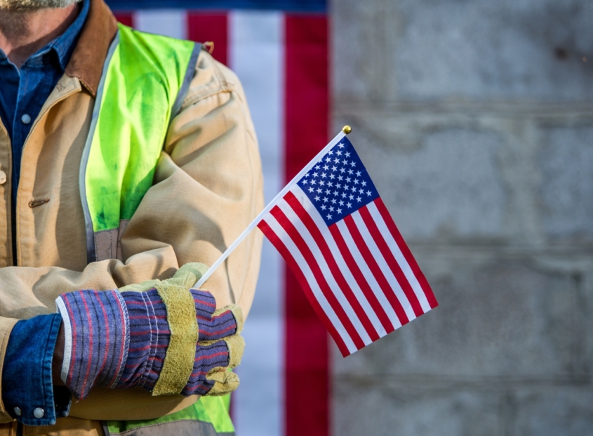
[[[297,184],[328,227],[379,197],[347,138],[332,147]]]

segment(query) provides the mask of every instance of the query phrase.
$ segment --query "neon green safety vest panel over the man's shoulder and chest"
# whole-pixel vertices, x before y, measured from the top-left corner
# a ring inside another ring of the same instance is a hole
[[[152,185],[168,125],[187,93],[200,44],[119,25],[97,91],[79,184],[88,263],[117,257]]]

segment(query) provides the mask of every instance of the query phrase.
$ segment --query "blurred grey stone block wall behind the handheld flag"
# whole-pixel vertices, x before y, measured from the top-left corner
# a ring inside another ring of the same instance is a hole
[[[593,435],[593,2],[331,8],[334,128],[440,303],[333,350],[333,435]]]

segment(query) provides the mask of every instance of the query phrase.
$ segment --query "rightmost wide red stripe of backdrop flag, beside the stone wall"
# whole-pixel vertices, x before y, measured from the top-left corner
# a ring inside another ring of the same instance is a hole
[[[326,16],[286,15],[285,41],[285,174],[288,181],[328,143]],[[285,434],[327,436],[330,416],[328,336],[289,270],[286,270],[285,305]]]

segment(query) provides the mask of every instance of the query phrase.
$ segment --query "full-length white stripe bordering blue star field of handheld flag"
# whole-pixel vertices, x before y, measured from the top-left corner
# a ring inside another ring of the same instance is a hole
[[[311,200],[309,200],[309,197],[307,197],[305,192],[302,192],[299,185],[294,185],[291,188],[291,192],[293,192],[300,204],[302,204],[305,211],[309,213],[309,216],[311,216],[313,222],[319,229],[319,232],[321,232],[321,235],[324,237],[326,243],[328,244],[329,250],[335,258],[335,263],[338,264],[338,269],[342,273],[342,276],[344,277],[348,286],[350,286],[350,289],[352,289],[354,296],[356,296],[357,300],[359,300],[362,309],[366,313],[366,316],[371,321],[371,324],[373,324],[373,327],[375,327],[375,331],[377,331],[380,337],[385,336],[387,334],[387,331],[385,331],[385,328],[381,324],[380,319],[377,317],[377,314],[375,313],[373,308],[371,308],[371,304],[368,303],[368,300],[364,295],[364,292],[361,290],[359,283],[356,279],[354,279],[354,276],[352,275],[350,268],[346,264],[346,261],[342,257],[342,252],[338,249],[338,245],[335,243],[333,235],[328,229],[328,226],[326,225],[325,221],[323,220],[323,218],[321,218],[321,216],[319,216],[319,213],[317,213],[317,209],[315,209],[315,206],[312,204]]]

